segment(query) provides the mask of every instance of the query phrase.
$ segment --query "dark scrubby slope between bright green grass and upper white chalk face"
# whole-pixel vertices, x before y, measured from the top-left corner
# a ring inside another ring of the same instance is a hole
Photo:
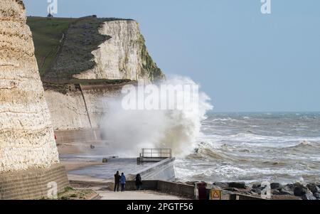
[[[104,22],[104,18],[88,16],[71,23],[63,48],[46,76],[72,78],[75,74],[93,68],[95,61],[92,51],[111,38],[99,33]]]

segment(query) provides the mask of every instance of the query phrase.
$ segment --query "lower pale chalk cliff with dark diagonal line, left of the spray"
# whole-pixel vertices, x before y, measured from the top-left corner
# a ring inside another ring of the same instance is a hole
[[[78,130],[100,127],[102,115],[107,111],[106,98],[117,97],[122,85],[56,87],[45,84],[53,128],[55,130]]]

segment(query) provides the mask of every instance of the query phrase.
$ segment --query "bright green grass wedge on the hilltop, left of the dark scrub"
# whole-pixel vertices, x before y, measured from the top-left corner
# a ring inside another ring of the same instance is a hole
[[[27,18],[27,24],[31,28],[35,54],[39,72],[44,75],[55,60],[60,48],[60,40],[66,33],[69,24],[77,18]]]

